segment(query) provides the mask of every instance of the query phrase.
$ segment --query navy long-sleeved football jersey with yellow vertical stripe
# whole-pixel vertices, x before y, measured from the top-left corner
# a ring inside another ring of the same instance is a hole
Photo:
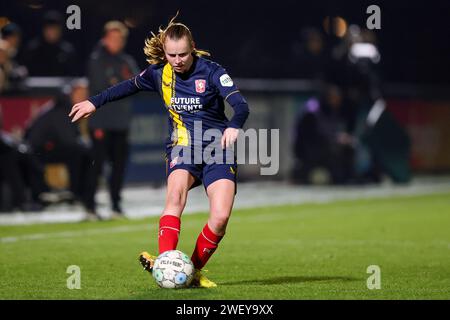
[[[111,87],[89,100],[98,108],[138,91],[158,92],[169,114],[169,143],[189,146],[194,126],[201,121],[204,132],[227,127],[242,128],[249,111],[248,105],[231,77],[219,64],[194,57],[189,71],[176,73],[169,63],[150,65],[136,77]],[[224,100],[234,109],[229,121],[225,116]]]

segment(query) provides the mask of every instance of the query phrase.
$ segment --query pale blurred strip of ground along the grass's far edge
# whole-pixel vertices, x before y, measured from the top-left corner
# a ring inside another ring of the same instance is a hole
[[[255,208],[265,206],[330,203],[336,200],[353,199],[386,199],[396,196],[416,196],[450,192],[450,177],[443,180],[416,179],[409,185],[396,186],[390,184],[368,185],[358,187],[330,186],[293,186],[286,183],[241,183],[235,199],[234,209]],[[109,217],[108,194],[99,192],[99,214]],[[123,207],[130,219],[141,219],[158,216],[164,209],[165,189],[134,187],[124,190]],[[187,213],[207,212],[208,199],[202,188],[189,192],[189,199],[184,210]],[[39,213],[0,214],[0,225],[24,225],[36,223],[76,223],[83,221],[85,213],[81,207],[55,206]]]

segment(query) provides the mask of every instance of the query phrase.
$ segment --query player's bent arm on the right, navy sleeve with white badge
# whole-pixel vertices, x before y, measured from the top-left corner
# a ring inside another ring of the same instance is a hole
[[[227,123],[227,128],[222,136],[222,148],[231,146],[237,139],[239,129],[244,126],[250,113],[248,103],[242,96],[225,69],[218,68],[213,76],[213,83],[219,90],[220,95],[231,105],[234,115]]]

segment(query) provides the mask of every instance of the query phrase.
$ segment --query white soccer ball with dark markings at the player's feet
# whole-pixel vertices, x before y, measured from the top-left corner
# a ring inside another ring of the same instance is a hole
[[[169,250],[156,258],[152,275],[161,288],[185,288],[194,277],[194,264],[185,253]]]

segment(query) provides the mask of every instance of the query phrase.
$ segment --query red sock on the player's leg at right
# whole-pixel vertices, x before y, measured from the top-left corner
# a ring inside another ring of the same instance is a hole
[[[214,234],[211,229],[209,229],[208,224],[205,225],[197,238],[197,243],[191,257],[195,269],[200,270],[203,268],[208,259],[217,249],[222,238],[223,236]]]

